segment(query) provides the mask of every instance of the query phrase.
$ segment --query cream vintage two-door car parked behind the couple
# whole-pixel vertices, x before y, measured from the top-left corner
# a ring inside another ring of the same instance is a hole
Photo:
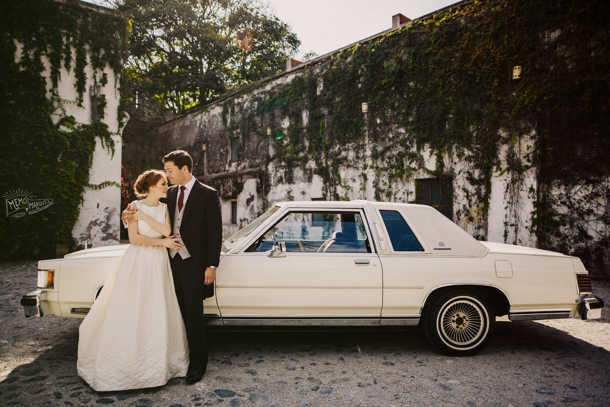
[[[85,317],[127,245],[38,262],[26,316]],[[601,316],[580,259],[479,242],[430,206],[281,202],[224,240],[215,325],[417,325],[439,350],[472,355],[495,318]],[[129,310],[126,310],[129,312]]]

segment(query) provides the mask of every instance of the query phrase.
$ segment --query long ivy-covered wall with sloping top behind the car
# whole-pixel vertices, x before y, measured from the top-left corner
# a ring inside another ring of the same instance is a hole
[[[226,233],[277,200],[413,202],[417,179],[436,178],[478,239],[576,254],[608,276],[609,12],[468,2],[193,108],[159,137],[237,199]]]

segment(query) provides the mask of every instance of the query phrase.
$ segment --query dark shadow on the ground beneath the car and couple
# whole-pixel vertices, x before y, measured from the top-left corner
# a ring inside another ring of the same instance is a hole
[[[240,355],[283,358],[281,355],[306,353],[307,357],[342,355],[345,358],[351,356],[363,360],[373,356],[378,359],[389,358],[392,365],[396,364],[397,369],[400,367],[403,370],[404,367],[398,359],[403,359],[403,362],[405,359],[420,359],[418,364],[406,368],[409,371],[425,367],[426,359],[434,362],[434,359],[442,356],[423,339],[417,327],[403,330],[373,328],[306,331],[295,331],[293,328],[257,331],[214,328],[209,330],[209,337],[210,366],[245,365],[242,367],[249,367],[249,370],[254,372],[249,374],[253,376],[265,375],[266,362],[260,359],[259,364],[257,361],[239,364],[237,359]],[[57,340],[60,341],[59,344],[40,352],[34,361],[13,370],[0,383],[2,405],[23,403],[73,406],[119,403],[152,406],[158,405],[157,395],[160,392],[171,391],[170,387],[173,386],[186,387],[182,379],[174,378],[166,386],[151,389],[95,392],[76,374],[77,329],[58,335]],[[232,356],[228,356],[229,354]],[[511,355],[516,355],[517,359]],[[590,406],[610,405],[606,390],[610,385],[610,373],[606,368],[610,362],[609,352],[540,323],[498,322],[494,339],[479,355],[441,359],[451,359],[456,365],[473,372],[516,369],[515,377],[522,376],[523,381],[539,380],[541,384],[536,390],[539,401],[530,402],[528,405],[544,407],[556,402]],[[518,365],[515,365],[515,360]],[[291,362],[288,361],[287,364]],[[306,368],[299,365],[300,363],[296,363],[294,368],[286,369],[296,370],[295,374],[298,374],[298,371]],[[409,366],[409,363],[403,365]],[[447,367],[444,369],[447,370]],[[579,391],[583,386],[587,386],[586,395]],[[239,389],[234,390],[239,392]],[[561,396],[565,391],[572,391],[575,395]],[[189,392],[187,387],[187,393]],[[188,402],[188,399],[180,401]],[[237,404],[231,404],[233,405]]]

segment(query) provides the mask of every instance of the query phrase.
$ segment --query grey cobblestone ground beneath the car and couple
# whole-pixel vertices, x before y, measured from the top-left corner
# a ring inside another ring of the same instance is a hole
[[[201,383],[95,392],[76,372],[81,319],[23,315],[36,268],[0,264],[1,406],[610,406],[609,308],[593,321],[499,318],[495,339],[464,358],[440,355],[415,327],[216,329]],[[606,300],[609,288],[594,281]]]

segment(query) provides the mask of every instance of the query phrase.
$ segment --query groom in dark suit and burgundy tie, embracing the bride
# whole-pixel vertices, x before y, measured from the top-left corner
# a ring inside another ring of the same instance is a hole
[[[216,267],[220,262],[223,225],[218,191],[197,181],[191,174],[193,159],[186,151],[172,151],[163,157],[165,173],[173,184],[167,192],[171,234],[182,239],[179,250],[168,249],[174,289],[187,331],[187,383],[201,380],[207,368],[206,330],[203,300],[214,295]],[[137,209],[123,211],[130,222]]]

